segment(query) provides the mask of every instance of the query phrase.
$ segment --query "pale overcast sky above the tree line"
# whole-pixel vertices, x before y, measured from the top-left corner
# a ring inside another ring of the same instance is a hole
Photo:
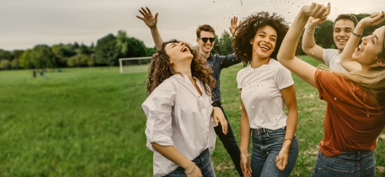
[[[314,1],[327,4],[328,1]],[[329,1],[334,20],[341,13],[385,11],[384,0]],[[228,31],[230,18],[246,18],[253,12],[279,13],[288,22],[310,0],[0,0],[0,48],[8,51],[36,44],[90,46],[106,34],[125,30],[129,37],[154,46],[148,27],[135,15],[148,6],[159,13],[158,28],[164,40],[179,39],[195,45],[195,29],[209,24],[216,34]]]

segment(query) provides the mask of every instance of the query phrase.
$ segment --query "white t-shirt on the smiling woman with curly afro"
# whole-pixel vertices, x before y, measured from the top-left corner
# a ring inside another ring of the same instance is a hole
[[[281,129],[286,126],[285,102],[281,89],[294,84],[291,72],[278,61],[253,69],[251,65],[237,74],[238,89],[251,129]]]

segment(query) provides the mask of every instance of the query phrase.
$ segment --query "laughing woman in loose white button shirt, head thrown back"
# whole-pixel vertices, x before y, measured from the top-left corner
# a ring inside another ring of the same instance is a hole
[[[164,42],[149,65],[147,147],[154,152],[154,176],[215,176],[211,157],[214,126],[227,122],[212,107],[212,69],[183,41]]]

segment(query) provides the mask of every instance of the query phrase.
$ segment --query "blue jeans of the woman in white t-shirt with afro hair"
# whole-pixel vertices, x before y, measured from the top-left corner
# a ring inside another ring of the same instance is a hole
[[[288,164],[281,171],[276,157],[282,149],[286,129],[252,129],[252,176],[289,176],[298,157],[298,140],[294,136],[289,150]]]

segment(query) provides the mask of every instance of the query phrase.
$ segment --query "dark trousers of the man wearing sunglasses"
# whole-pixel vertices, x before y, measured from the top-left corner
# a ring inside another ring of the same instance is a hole
[[[223,105],[221,105],[219,108],[221,108],[222,112],[224,112]],[[225,112],[224,112],[224,116],[228,122]],[[236,136],[234,136],[233,129],[231,129],[230,122],[228,122],[226,135],[222,132],[221,124],[214,127],[214,130],[219,140],[221,140],[221,142],[224,144],[224,147],[226,148],[228,155],[230,155],[231,157],[231,160],[233,160],[234,166],[236,167],[236,170],[238,171],[239,176],[243,176],[242,169],[240,169],[240,150],[236,140]]]

